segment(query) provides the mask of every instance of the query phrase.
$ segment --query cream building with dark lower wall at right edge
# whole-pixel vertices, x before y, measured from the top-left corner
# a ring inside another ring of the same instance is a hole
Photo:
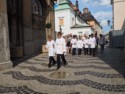
[[[110,32],[110,46],[125,47],[125,0],[111,0],[113,9],[113,30]]]

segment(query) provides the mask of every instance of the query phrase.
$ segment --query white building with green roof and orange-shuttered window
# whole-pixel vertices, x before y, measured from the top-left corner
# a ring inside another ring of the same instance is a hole
[[[70,0],[58,0],[55,8],[55,30],[62,31],[63,35],[89,35],[93,31],[78,10],[78,1],[73,5]]]

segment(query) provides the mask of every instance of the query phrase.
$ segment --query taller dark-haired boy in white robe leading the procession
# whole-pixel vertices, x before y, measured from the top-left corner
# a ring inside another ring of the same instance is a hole
[[[61,32],[57,33],[57,37],[58,38],[56,39],[55,50],[56,50],[56,54],[57,54],[57,70],[58,70],[62,65],[61,59],[62,59],[62,62],[64,63],[64,65],[67,65],[67,61],[64,56],[64,54],[66,53],[65,39],[62,37]]]

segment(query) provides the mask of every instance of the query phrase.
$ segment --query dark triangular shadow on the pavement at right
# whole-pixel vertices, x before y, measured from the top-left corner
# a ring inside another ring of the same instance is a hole
[[[106,47],[103,54],[100,54],[99,50],[97,57],[125,78],[125,56],[123,48]]]

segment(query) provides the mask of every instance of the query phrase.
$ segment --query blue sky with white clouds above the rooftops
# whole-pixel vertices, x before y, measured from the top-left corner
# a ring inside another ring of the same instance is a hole
[[[76,0],[71,0],[75,4]],[[87,7],[92,15],[103,27],[103,34],[110,31],[111,26],[108,26],[107,21],[110,20],[112,24],[112,5],[110,0],[78,0],[79,9],[82,11],[83,8]]]

